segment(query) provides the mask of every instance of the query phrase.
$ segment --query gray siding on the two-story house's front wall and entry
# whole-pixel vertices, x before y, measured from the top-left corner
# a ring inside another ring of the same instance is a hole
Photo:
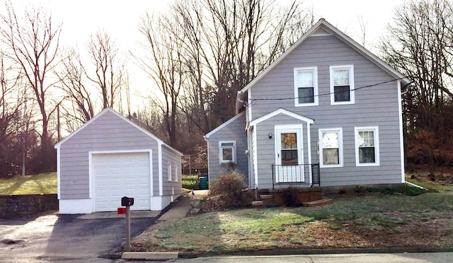
[[[355,90],[355,103],[331,105],[329,66],[354,66],[355,88],[383,83]],[[319,105],[295,107],[294,68],[317,66]],[[343,128],[342,168],[321,168],[321,186],[365,185],[401,182],[401,147],[397,81],[333,35],[309,37],[271,71],[251,87],[251,113],[257,119],[280,107],[314,119],[311,126],[312,163],[319,162],[316,148],[319,129]],[[287,120],[273,119],[273,124]],[[297,124],[297,122],[294,122]],[[269,162],[275,163],[273,146],[264,136],[270,127],[258,124],[258,178],[269,177]],[[354,127],[379,127],[379,166],[357,166],[355,163]],[[260,134],[261,133],[261,134]],[[306,135],[304,134],[304,140]],[[304,151],[304,153],[307,153]],[[267,185],[268,180],[263,180]],[[260,182],[262,183],[262,182]]]

